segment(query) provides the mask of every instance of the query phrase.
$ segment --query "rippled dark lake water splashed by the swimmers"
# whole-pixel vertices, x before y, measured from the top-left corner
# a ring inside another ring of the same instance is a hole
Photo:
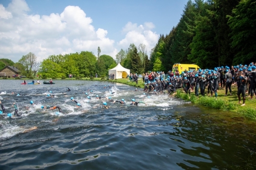
[[[181,170],[242,169],[256,152],[256,124],[234,113],[195,106],[167,95],[99,81],[20,85],[0,80],[8,113],[16,102],[21,118],[0,118],[1,170]],[[95,86],[97,84],[97,86]],[[103,89],[104,85],[114,86]],[[67,92],[66,87],[71,89]],[[90,93],[87,100],[82,92]],[[47,98],[49,91],[55,98]],[[22,96],[12,95],[21,93]],[[113,95],[111,92],[115,92]],[[103,109],[95,96],[125,99]],[[83,106],[70,101],[75,98]],[[130,106],[131,99],[147,103]],[[35,105],[29,104],[34,101]],[[43,110],[41,105],[59,105]],[[31,127],[36,130],[27,132]],[[255,162],[250,162],[250,167]],[[241,168],[240,168],[241,167]]]

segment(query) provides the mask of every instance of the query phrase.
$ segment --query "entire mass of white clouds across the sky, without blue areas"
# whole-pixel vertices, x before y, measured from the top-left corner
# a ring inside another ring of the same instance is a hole
[[[122,32],[125,38],[115,43],[107,37],[108,31],[95,30],[93,20],[79,6],[67,6],[61,14],[28,14],[25,0],[12,0],[8,7],[0,4],[0,58],[17,62],[22,55],[35,53],[41,61],[49,55],[92,51],[115,58],[117,52],[130,43],[144,43],[148,52],[157,43],[159,35],[152,32],[153,23],[128,22]]]

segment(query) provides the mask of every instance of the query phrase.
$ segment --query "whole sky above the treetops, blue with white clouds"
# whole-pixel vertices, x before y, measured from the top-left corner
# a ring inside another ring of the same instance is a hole
[[[0,52],[0,58],[9,56],[17,62],[28,52],[34,52],[39,60],[53,54],[86,50],[96,54],[98,46],[101,47],[102,54],[114,58],[121,48],[127,49],[130,43],[137,46],[144,43],[149,52],[160,34],[168,34],[177,25],[186,2],[187,0],[0,1],[0,33],[5,35],[0,36],[0,45],[6,47],[2,47],[6,50]],[[11,29],[6,29],[3,25]]]

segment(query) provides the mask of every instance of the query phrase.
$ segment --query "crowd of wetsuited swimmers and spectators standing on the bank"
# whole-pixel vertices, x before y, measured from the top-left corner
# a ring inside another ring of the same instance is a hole
[[[142,75],[143,82],[145,84],[145,92],[164,92],[168,90],[169,93],[176,92],[177,88],[183,88],[186,94],[190,95],[190,92],[195,91],[195,95],[198,97],[199,93],[205,96],[205,93],[218,97],[219,87],[224,89],[226,87],[225,96],[229,91],[232,95],[231,85],[237,85],[237,96],[239,99],[239,104],[241,103],[241,95],[243,103],[241,106],[245,105],[245,98],[253,97],[256,98],[256,63],[250,63],[247,65],[237,65],[237,66],[221,66],[215,67],[214,69],[198,69],[193,71],[185,70],[180,74],[176,69],[167,72],[149,72]],[[131,74],[130,81],[137,82],[137,75]],[[207,89],[207,92],[205,90]],[[246,94],[248,93],[248,96]]]

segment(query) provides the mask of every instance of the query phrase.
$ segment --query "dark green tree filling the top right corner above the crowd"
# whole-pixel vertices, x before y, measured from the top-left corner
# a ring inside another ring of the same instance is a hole
[[[256,1],[241,0],[233,16],[228,16],[231,47],[236,49],[233,63],[249,63],[256,56]]]

